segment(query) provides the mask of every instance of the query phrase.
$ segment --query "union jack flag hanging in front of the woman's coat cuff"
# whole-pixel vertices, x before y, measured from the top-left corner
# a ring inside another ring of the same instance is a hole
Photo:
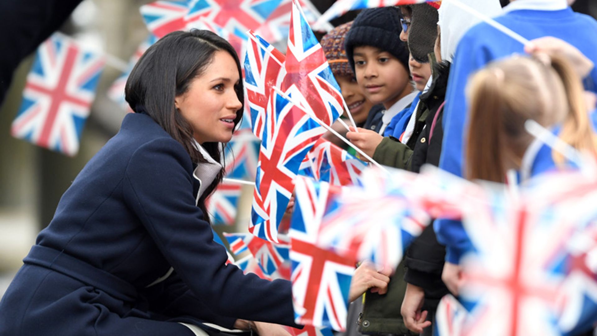
[[[344,330],[355,263],[316,245],[328,187],[306,183],[304,178],[296,181],[297,201],[289,231],[294,320]]]

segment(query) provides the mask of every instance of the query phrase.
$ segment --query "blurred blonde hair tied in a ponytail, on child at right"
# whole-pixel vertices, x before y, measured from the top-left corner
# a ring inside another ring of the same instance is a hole
[[[467,86],[469,130],[466,176],[501,182],[510,166],[519,167],[533,141],[524,123],[562,124],[559,138],[576,149],[597,153],[597,137],[580,78],[560,56],[515,56],[491,63]],[[552,152],[558,166],[559,152]]]

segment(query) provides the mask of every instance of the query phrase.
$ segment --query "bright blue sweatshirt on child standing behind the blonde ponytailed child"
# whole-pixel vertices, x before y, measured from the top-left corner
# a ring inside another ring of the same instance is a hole
[[[577,47],[597,64],[597,21],[584,14],[575,13],[570,7],[558,11],[515,10],[496,21],[527,39],[555,36]],[[444,112],[444,146],[439,167],[462,176],[463,144],[466,136],[467,104],[464,89],[470,75],[491,60],[513,53],[524,54],[524,46],[487,23],[479,23],[461,39],[450,71],[446,108]],[[587,90],[596,91],[597,69],[585,78]],[[491,150],[491,148],[488,148]],[[459,221],[435,221],[438,241],[446,245],[446,260],[458,264],[469,242]]]

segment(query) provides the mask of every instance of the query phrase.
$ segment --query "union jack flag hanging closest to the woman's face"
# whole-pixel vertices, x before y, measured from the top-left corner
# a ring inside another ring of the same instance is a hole
[[[282,84],[286,56],[253,31],[248,35],[244,84],[253,133],[261,139],[269,95],[272,87]]]

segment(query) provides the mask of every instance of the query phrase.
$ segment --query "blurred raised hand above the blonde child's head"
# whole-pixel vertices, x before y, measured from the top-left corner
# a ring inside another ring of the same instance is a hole
[[[552,36],[534,39],[525,45],[524,50],[528,54],[546,53],[548,55],[563,56],[574,66],[580,78],[587,77],[593,68],[595,68],[595,64],[574,47],[574,45]]]

